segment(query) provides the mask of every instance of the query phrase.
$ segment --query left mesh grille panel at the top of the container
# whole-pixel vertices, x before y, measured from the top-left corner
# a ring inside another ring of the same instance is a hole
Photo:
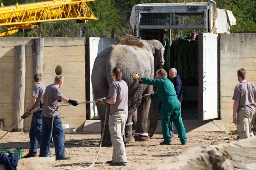
[[[170,13],[140,13],[139,25],[170,25]]]

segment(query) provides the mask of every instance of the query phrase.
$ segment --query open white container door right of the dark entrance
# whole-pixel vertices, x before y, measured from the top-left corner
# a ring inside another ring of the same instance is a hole
[[[218,34],[198,34],[198,120],[218,118]]]

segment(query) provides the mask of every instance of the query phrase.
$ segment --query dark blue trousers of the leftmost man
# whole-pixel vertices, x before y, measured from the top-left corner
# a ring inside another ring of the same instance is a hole
[[[29,154],[37,152],[37,144],[41,141],[42,136],[42,111],[38,111],[32,114],[31,126],[29,131],[30,148]]]

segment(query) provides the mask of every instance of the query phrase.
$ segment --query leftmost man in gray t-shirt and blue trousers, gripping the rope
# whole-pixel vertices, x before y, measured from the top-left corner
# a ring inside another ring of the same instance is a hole
[[[32,98],[30,100],[29,106],[27,108],[27,112],[34,110],[39,107],[39,103],[44,95],[45,87],[42,84],[42,75],[35,74],[34,75],[34,88],[32,93]],[[42,134],[42,109],[38,109],[32,115],[31,126],[29,131],[29,139],[30,139],[30,148],[29,154],[25,155],[23,158],[35,157],[37,155],[37,145],[41,141],[41,134]],[[27,118],[30,114],[24,116]],[[51,153],[50,153],[51,155]]]

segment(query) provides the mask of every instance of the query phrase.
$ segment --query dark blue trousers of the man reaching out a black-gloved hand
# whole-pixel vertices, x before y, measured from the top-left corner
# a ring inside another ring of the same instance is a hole
[[[39,157],[47,157],[48,148],[50,148],[50,139],[51,139],[51,126],[53,121],[53,141],[56,159],[65,156],[65,136],[62,128],[62,121],[59,115],[53,118],[48,118],[42,116],[42,137],[41,137],[41,145],[40,145],[40,154]]]

